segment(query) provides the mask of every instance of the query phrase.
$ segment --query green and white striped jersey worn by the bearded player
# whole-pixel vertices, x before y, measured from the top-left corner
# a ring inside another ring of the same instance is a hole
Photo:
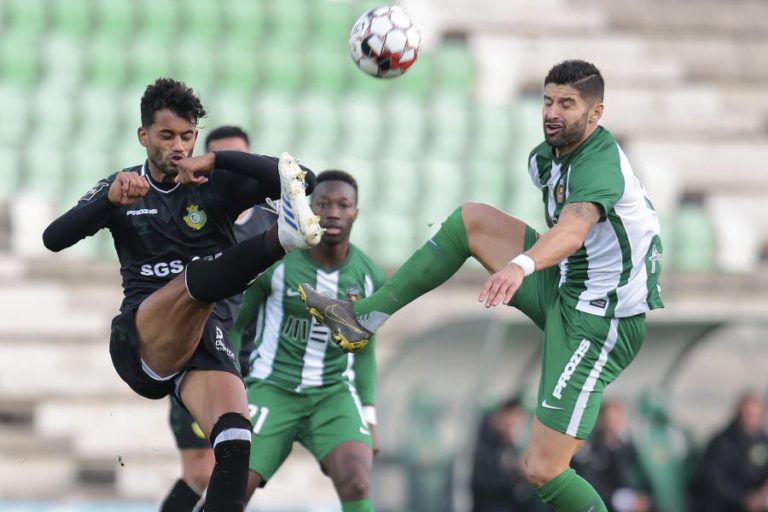
[[[591,202],[602,210],[584,245],[560,262],[560,294],[580,311],[609,318],[664,307],[659,219],[613,135],[599,126],[560,160],[542,143],[530,154],[529,172],[550,227],[567,203]]]

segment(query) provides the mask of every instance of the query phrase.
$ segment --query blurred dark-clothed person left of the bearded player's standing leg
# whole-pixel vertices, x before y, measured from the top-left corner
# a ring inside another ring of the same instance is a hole
[[[473,512],[546,510],[521,468],[527,423],[517,398],[483,417],[472,467]]]

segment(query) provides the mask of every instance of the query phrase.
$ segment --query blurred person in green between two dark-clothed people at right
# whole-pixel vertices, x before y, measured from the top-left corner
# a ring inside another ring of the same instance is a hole
[[[692,436],[670,420],[664,390],[647,389],[640,396],[632,439],[641,473],[648,481],[653,511],[688,510],[697,450]]]

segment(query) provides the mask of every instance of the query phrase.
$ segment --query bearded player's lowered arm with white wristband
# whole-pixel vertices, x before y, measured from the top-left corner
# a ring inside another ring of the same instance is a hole
[[[544,233],[528,251],[488,278],[480,292],[480,302],[485,302],[487,308],[508,303],[526,275],[557,265],[578,251],[584,245],[589,230],[601,217],[600,207],[595,203],[566,204],[552,229]]]

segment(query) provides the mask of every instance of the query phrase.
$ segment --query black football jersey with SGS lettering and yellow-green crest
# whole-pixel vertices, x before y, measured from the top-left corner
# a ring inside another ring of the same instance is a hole
[[[276,164],[268,165],[274,165],[277,176]],[[138,307],[148,295],[182,273],[193,258],[218,257],[235,244],[233,223],[238,214],[266,197],[280,195],[279,178],[260,182],[215,169],[205,184],[182,185],[156,182],[146,162],[125,170],[149,180],[150,189],[144,197],[130,206],[113,205],[107,197],[116,176],[113,174],[100,180],[43,236],[46,246],[57,251],[101,228],[109,229],[123,280],[121,310]],[[224,310],[229,311],[225,307],[221,313]]]

